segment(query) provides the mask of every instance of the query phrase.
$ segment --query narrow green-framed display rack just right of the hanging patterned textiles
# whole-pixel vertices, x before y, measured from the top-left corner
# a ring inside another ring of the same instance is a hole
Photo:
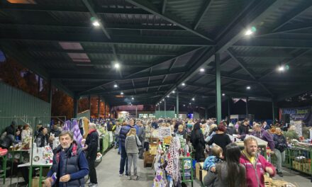
[[[182,182],[191,183],[193,187],[193,162],[191,157],[180,157],[180,171]]]

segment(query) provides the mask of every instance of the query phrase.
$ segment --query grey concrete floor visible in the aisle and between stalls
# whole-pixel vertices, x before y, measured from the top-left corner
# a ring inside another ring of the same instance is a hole
[[[99,186],[114,186],[114,187],[152,187],[155,176],[154,171],[150,167],[143,167],[143,160],[138,160],[138,181],[128,181],[125,176],[118,176],[119,162],[121,156],[117,154],[117,149],[111,149],[104,154],[101,163],[96,166],[97,178]],[[284,177],[275,176],[274,179],[289,181],[298,187],[312,186],[311,176],[302,175],[299,172],[284,169]],[[12,185],[16,186],[16,179],[12,179]],[[23,179],[20,179],[23,181]],[[10,179],[6,179],[6,185],[10,186]],[[2,186],[2,179],[0,179],[0,186]],[[191,186],[189,183],[188,186]],[[199,182],[194,181],[194,187],[199,187]]]

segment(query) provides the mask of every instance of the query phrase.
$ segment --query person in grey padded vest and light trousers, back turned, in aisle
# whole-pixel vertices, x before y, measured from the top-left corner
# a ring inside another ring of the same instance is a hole
[[[137,162],[138,162],[138,146],[141,146],[141,142],[136,135],[135,128],[130,128],[125,142],[125,148],[128,156],[128,180],[131,180],[131,166],[133,163],[133,179],[137,180]]]

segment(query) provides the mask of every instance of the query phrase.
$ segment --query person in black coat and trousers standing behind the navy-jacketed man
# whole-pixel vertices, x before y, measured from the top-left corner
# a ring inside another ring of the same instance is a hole
[[[86,157],[89,164],[89,176],[90,183],[89,186],[97,187],[95,160],[97,155],[97,148],[99,147],[99,134],[96,132],[96,125],[94,123],[89,123],[89,133],[86,139],[86,145],[83,150],[86,151]]]

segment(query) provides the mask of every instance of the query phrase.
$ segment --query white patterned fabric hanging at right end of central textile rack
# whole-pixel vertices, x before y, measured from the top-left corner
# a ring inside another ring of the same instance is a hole
[[[181,182],[179,149],[181,148],[179,137],[173,137],[168,149],[169,158],[166,171],[174,180],[174,185]]]

